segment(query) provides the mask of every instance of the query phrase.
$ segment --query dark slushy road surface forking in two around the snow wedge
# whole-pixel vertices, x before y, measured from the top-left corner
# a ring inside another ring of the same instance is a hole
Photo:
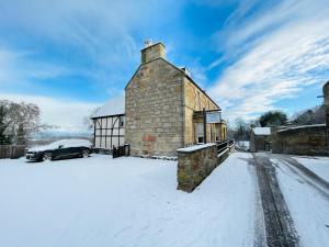
[[[259,236],[256,236],[256,238],[263,237],[266,243],[258,240],[254,246],[303,246],[299,238],[300,233],[296,231],[294,218],[282,192],[282,189],[285,188],[281,187],[284,187],[284,184],[279,182],[277,172],[283,169],[287,170],[291,179],[310,188],[314,193],[327,201],[328,205],[329,183],[288,155],[256,153],[252,154],[249,164],[254,166],[257,173],[260,194],[259,209],[257,210],[263,213],[263,222],[258,221],[256,224],[263,224],[265,232],[263,234],[259,232]],[[256,228],[261,229],[262,226],[258,225]]]

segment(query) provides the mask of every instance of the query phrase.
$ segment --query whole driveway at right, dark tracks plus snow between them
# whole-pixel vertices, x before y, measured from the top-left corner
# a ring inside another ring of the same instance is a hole
[[[249,164],[254,166],[257,171],[261,201],[259,211],[263,212],[261,223],[264,227],[259,225],[257,228],[264,228],[266,245],[321,246],[320,243],[316,243],[318,235],[329,234],[328,181],[290,155],[256,153],[252,154]],[[311,200],[313,198],[315,200]],[[306,214],[314,214],[308,223]],[[317,229],[315,233],[309,233],[311,226]],[[263,243],[260,244],[262,245]]]

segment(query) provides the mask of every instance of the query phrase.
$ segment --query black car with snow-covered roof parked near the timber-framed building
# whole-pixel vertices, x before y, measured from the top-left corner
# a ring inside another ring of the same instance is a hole
[[[63,158],[83,157],[91,153],[91,143],[86,139],[61,139],[46,146],[30,148],[26,159],[31,161],[45,161]]]

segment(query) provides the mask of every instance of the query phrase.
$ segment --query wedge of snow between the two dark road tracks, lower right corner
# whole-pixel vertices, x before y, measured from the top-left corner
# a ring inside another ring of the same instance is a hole
[[[308,159],[304,164],[310,165],[313,161]],[[328,246],[328,198],[319,193],[317,186],[310,186],[311,181],[303,175],[296,177],[295,172],[298,172],[296,169],[290,169],[279,160],[276,160],[276,166],[279,167],[276,171],[280,188],[294,220],[302,245],[305,247]]]

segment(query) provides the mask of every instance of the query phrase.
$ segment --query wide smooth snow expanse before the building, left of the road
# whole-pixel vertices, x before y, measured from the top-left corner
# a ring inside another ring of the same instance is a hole
[[[0,160],[0,246],[252,246],[250,154],[232,154],[193,192],[177,162],[93,155]]]

